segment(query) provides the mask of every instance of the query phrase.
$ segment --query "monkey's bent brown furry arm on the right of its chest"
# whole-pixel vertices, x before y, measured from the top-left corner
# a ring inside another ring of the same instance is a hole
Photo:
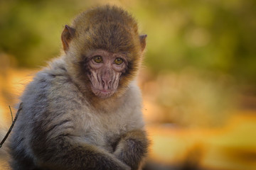
[[[133,130],[121,138],[114,156],[131,166],[132,170],[137,170],[146,156],[148,145],[146,133],[143,130]]]

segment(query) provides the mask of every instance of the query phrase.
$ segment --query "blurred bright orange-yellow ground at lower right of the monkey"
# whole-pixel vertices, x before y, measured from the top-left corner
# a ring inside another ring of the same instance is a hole
[[[196,162],[206,169],[256,169],[256,116],[241,113],[221,128],[151,125],[151,159],[164,164]],[[191,159],[191,160],[190,160]]]

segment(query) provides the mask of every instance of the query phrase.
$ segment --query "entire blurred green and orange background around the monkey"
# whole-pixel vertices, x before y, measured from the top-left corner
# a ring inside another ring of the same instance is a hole
[[[33,74],[61,54],[65,24],[99,4],[127,9],[148,35],[139,74],[151,139],[145,169],[255,170],[255,0],[1,0],[1,139],[9,106],[16,113]]]

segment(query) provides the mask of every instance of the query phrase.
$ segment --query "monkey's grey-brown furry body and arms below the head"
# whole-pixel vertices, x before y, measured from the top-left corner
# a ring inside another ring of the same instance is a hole
[[[95,109],[60,57],[36,74],[21,102],[10,142],[12,169],[138,169],[146,154],[136,81],[106,100],[109,107]]]

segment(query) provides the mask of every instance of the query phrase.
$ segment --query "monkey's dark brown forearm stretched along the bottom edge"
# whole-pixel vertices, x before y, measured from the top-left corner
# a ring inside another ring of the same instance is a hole
[[[47,169],[128,170],[129,166],[94,145],[73,142],[72,136],[59,135],[31,144],[38,164]]]

